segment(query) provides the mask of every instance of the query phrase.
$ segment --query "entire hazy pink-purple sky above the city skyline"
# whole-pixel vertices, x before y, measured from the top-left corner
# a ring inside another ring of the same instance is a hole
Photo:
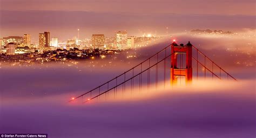
[[[255,28],[253,0],[0,0],[0,37],[50,31],[51,37],[68,39],[92,33],[114,35],[127,30],[130,35],[165,34],[212,28],[241,30]]]

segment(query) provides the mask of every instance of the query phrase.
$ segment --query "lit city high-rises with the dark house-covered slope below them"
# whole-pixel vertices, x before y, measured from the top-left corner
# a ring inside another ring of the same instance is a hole
[[[92,34],[91,39],[80,40],[79,29],[77,31],[78,37],[68,39],[64,42],[58,42],[58,38],[56,37],[50,37],[50,32],[39,33],[38,43],[31,43],[30,34],[24,34],[23,37],[9,36],[4,37],[3,39],[0,38],[0,54],[2,55],[4,62],[13,62],[16,60],[18,60],[19,62],[23,62],[24,60],[20,58],[26,56],[28,56],[26,57],[26,60],[33,61],[43,58],[45,54],[50,55],[50,57],[48,57],[46,61],[66,61],[66,56],[71,57],[71,59],[79,59],[79,57],[82,57],[83,59],[88,59],[89,57],[87,56],[87,54],[85,54],[87,53],[88,49],[100,49],[103,51],[134,49],[147,46],[149,43],[152,43],[151,41],[155,41],[161,38],[151,36],[151,34],[147,34],[145,35],[145,37],[144,35],[143,37],[127,37],[127,31],[118,31],[116,33],[116,37],[113,38],[106,38],[104,34]],[[55,57],[55,53],[60,49],[65,51],[65,56]],[[75,52],[73,52],[73,50],[75,50]],[[13,57],[9,57],[9,55],[13,55]],[[34,56],[40,57],[35,58]],[[104,57],[105,55],[102,56]],[[59,59],[58,57],[61,58]]]

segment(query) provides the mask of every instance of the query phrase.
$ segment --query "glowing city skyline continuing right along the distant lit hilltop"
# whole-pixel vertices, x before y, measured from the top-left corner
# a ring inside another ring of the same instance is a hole
[[[177,34],[169,34],[168,27],[166,27],[166,34],[163,37],[171,37],[176,39],[175,35]],[[142,46],[147,46],[150,40],[158,39],[161,37],[157,37],[157,32],[155,34],[143,34],[142,37],[127,35],[127,31],[117,31],[115,37],[107,38],[105,34],[92,34],[91,39],[78,39],[79,38],[79,29],[78,37],[73,37],[72,39],[68,39],[65,41],[59,41],[56,37],[50,37],[50,32],[39,33],[39,42],[34,43],[31,42],[31,35],[24,34],[23,37],[20,36],[9,36],[4,37],[3,39],[0,38],[0,42],[2,43],[2,47],[0,48],[0,53],[6,53],[6,47],[9,42],[15,43],[15,53],[16,54],[24,54],[24,53],[31,53],[38,51],[39,53],[46,52],[48,50],[56,50],[57,48],[63,49],[90,49],[90,48],[99,48],[99,49],[133,49]],[[253,31],[253,30],[252,30]],[[225,31],[225,30],[200,30],[194,29],[191,31],[186,31],[187,35],[200,35],[200,34],[210,34],[210,35],[223,35],[223,36],[235,36],[235,35],[242,35],[243,37],[251,37],[250,30],[243,33]],[[247,35],[245,35],[247,33]],[[173,35],[173,37],[172,37]],[[152,39],[153,38],[153,39]]]

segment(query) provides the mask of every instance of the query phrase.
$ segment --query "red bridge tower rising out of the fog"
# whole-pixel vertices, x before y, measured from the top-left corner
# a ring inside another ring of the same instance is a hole
[[[177,45],[173,40],[171,45],[171,85],[177,84],[178,76],[185,76],[186,84],[192,82],[192,45],[188,41],[187,45]],[[186,54],[186,68],[180,69],[177,67],[177,55]]]

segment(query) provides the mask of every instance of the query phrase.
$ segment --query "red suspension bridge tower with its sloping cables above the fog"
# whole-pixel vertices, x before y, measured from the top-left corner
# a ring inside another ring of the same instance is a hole
[[[193,62],[194,61],[194,62]],[[170,71],[166,71],[170,69]],[[228,74],[217,63],[212,61],[204,53],[194,47],[190,41],[186,45],[177,44],[173,40],[171,45],[161,49],[148,59],[137,64],[133,68],[125,71],[109,81],[97,86],[96,88],[72,98],[69,102],[82,99],[82,103],[113,93],[116,97],[118,92],[124,92],[134,88],[158,89],[159,86],[165,88],[167,85],[177,85],[178,82],[190,84],[196,77],[227,79],[237,81],[232,75]],[[169,80],[169,81],[168,81]]]

